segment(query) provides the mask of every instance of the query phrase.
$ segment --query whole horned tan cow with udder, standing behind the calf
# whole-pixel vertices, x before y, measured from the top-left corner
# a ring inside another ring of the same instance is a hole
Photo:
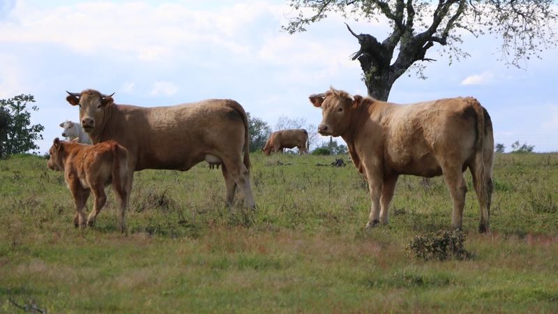
[[[130,170],[186,171],[206,160],[211,167],[222,166],[227,204],[234,199],[238,184],[246,207],[255,207],[250,188],[248,118],[236,101],[207,99],[168,107],[137,107],[116,105],[112,95],[93,89],[68,94],[68,103],[80,106],[82,128],[93,144],[116,140],[126,147]],[[128,184],[131,190],[133,172]]]

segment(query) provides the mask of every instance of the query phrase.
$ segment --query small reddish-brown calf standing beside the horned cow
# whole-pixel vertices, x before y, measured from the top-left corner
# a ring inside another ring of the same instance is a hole
[[[118,229],[126,227],[124,214],[128,205],[128,151],[114,141],[96,145],[60,141],[58,137],[49,150],[47,167],[63,171],[68,189],[74,198],[75,227],[93,227],[95,219],[107,201],[105,187],[112,184],[116,202],[120,209]],[[93,210],[87,221],[83,214],[89,193],[95,198]]]

